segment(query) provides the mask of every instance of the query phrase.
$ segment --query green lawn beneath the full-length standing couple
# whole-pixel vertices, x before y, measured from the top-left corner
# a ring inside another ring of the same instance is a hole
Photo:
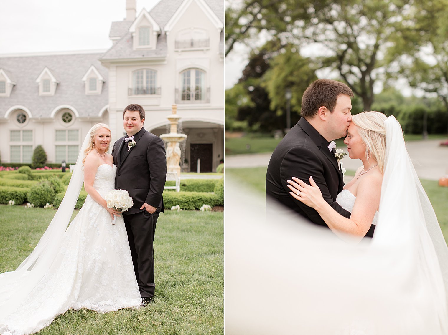
[[[0,205],[0,273],[22,263],[54,214]],[[156,288],[149,306],[107,314],[69,310],[37,334],[224,334],[223,236],[223,212],[167,210],[155,232]]]

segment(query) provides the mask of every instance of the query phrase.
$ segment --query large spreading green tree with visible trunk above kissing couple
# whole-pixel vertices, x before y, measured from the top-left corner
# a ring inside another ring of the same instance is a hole
[[[313,54],[317,68],[335,70],[370,110],[375,83],[385,81],[390,59],[417,50],[431,30],[422,2],[245,0],[227,9],[226,54],[260,32],[294,42]]]

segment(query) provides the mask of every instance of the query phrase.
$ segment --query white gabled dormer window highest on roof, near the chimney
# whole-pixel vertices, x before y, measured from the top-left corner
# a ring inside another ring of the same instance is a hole
[[[132,33],[132,47],[134,50],[155,49],[157,46],[157,34],[160,33],[160,26],[146,9],[143,8],[129,27],[129,33]]]

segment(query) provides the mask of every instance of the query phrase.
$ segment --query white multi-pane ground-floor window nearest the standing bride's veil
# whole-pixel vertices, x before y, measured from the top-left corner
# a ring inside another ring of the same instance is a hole
[[[78,129],[55,130],[55,162],[75,163],[78,158]]]

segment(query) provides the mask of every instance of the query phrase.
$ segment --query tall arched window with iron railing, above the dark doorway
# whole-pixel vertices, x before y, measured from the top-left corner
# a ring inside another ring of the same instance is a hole
[[[181,101],[203,101],[206,98],[205,72],[189,69],[181,73]]]

